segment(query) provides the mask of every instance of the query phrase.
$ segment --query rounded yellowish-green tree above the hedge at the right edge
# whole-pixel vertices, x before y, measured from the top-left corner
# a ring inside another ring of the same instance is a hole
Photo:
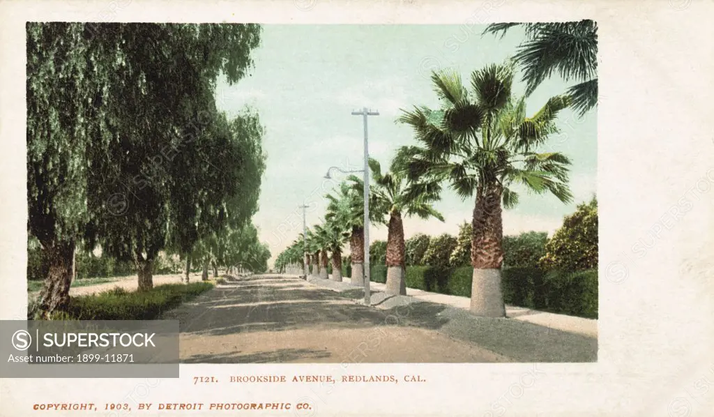
[[[598,201],[578,204],[575,213],[565,216],[563,226],[545,244],[543,268],[583,271],[598,267]]]

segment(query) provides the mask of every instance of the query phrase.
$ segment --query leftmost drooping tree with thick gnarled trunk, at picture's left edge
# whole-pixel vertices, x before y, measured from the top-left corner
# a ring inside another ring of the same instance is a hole
[[[27,228],[47,271],[39,296],[44,318],[69,301],[75,247],[89,219],[86,149],[109,142],[101,93],[119,70],[121,51],[103,46],[86,39],[84,24],[26,25]]]

